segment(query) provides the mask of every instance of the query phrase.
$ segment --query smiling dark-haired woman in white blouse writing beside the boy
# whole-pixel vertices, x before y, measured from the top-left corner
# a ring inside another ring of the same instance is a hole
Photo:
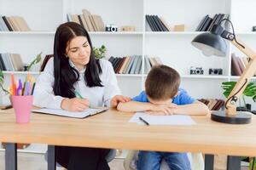
[[[130,99],[120,94],[112,65],[96,59],[87,31],[77,23],[61,24],[55,32],[54,59],[38,77],[34,105],[67,111],[89,106],[116,107]],[[76,98],[75,91],[84,99]],[[109,169],[109,150],[56,146],[56,161],[68,170]]]

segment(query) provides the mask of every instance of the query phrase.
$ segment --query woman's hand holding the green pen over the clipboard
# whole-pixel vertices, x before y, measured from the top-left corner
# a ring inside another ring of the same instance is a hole
[[[62,99],[61,101],[61,109],[66,111],[84,111],[88,109],[90,102],[88,99]]]

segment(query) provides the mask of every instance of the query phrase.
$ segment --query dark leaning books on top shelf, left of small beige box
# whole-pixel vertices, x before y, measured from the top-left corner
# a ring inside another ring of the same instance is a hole
[[[146,14],[146,20],[151,31],[171,31],[166,21],[158,15]]]

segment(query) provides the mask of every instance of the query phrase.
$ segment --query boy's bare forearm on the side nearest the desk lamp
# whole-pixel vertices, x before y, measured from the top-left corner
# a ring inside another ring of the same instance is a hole
[[[176,115],[207,115],[210,113],[207,105],[200,101],[195,101],[189,105],[177,105],[177,109],[173,109],[173,114]]]

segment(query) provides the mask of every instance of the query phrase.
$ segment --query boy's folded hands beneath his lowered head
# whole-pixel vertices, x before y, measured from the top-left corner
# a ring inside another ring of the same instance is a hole
[[[168,104],[168,105],[153,105],[152,109],[146,111],[149,115],[173,115],[173,110],[177,109],[176,104]]]

